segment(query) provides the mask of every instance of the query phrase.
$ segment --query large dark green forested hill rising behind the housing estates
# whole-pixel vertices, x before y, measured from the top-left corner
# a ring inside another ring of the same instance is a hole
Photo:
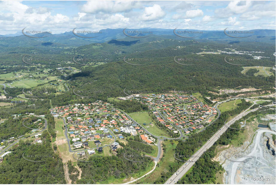
[[[158,46],[159,44],[151,43],[150,46]],[[144,46],[144,44],[141,46]],[[260,53],[259,55],[266,56],[267,58],[253,60],[253,57],[247,54],[196,54],[197,52],[211,52],[212,50],[231,51],[230,49],[227,50],[227,47],[235,48],[238,51],[261,50],[264,53]],[[138,49],[137,46],[130,46],[126,50],[134,48]],[[203,50],[203,48],[206,49]],[[82,69],[82,72],[73,74],[68,79],[71,79],[70,86],[76,87],[77,90],[100,91],[101,93],[95,95],[97,99],[125,96],[123,93],[125,88],[127,90],[147,90],[155,93],[164,93],[172,91],[175,88],[183,91],[206,91],[212,87],[219,89],[240,86],[256,88],[263,86],[274,87],[274,76],[263,77],[242,74],[242,66],[230,65],[224,60],[225,57],[227,59],[241,59],[241,62],[233,61],[232,63],[243,64],[244,66],[273,66],[275,65],[273,49],[275,49],[275,46],[273,48],[273,46],[260,43],[252,46],[249,43],[230,46],[228,44],[215,45],[212,42],[198,43],[185,41],[183,43],[179,42],[178,46],[156,47],[148,51],[141,51],[143,50],[141,48],[140,52],[122,54],[114,62],[96,67],[86,67]],[[124,62],[123,57],[126,58],[126,62]],[[179,61],[179,63],[191,64],[191,66],[186,66],[176,63],[174,57],[188,58],[196,61]],[[132,58],[147,59],[147,61],[131,61]],[[70,91],[57,96],[52,102],[56,105],[61,105],[62,102],[70,103],[72,96],[75,95]],[[79,97],[75,96],[75,98]]]

